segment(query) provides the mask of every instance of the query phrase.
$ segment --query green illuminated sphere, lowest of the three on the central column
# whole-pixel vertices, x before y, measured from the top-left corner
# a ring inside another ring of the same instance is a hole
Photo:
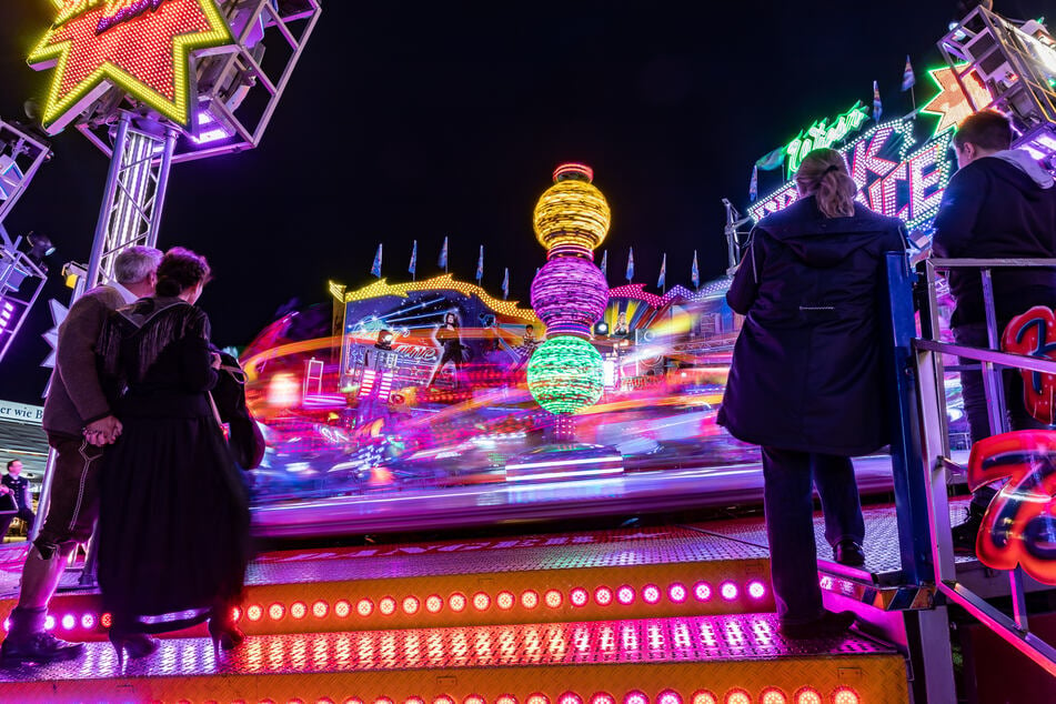
[[[566,415],[595,403],[605,386],[602,355],[586,340],[551,338],[529,362],[529,391],[551,413]]]

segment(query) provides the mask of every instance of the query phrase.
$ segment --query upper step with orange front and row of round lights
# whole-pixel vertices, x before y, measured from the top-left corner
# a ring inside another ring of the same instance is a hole
[[[665,526],[265,553],[239,615],[264,635],[773,610],[765,549]],[[60,637],[105,637],[98,594],[51,613]]]

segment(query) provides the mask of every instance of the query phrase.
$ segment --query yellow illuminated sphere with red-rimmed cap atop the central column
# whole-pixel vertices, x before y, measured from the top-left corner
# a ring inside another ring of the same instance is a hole
[[[563,164],[555,183],[535,203],[535,237],[546,251],[561,245],[595,250],[609,234],[612,211],[591,183],[593,172],[581,164]]]

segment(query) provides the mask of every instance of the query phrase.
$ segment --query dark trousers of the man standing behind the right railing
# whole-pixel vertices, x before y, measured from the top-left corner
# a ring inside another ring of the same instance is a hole
[[[1007,323],[998,323],[997,332],[1005,329]],[[986,323],[970,323],[953,329],[957,344],[972,348],[989,349]],[[978,364],[975,360],[962,359],[962,364]],[[1023,376],[1017,369],[1002,371],[1002,385],[1005,389],[1005,421],[1009,430],[1040,430],[1048,428],[1027,413],[1023,405]],[[983,385],[982,370],[961,372],[961,396],[964,400],[964,412],[968,418],[968,432],[972,443],[989,438],[989,415],[986,412],[986,390]],[[1000,432],[1000,429],[997,429]],[[980,486],[972,494],[972,509],[982,515],[989,505],[997,490],[990,485]]]

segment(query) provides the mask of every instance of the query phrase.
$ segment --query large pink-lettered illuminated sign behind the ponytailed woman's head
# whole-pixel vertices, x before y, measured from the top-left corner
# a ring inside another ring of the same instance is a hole
[[[911,153],[915,144],[913,119],[885,122],[842,148],[851,178],[858,184],[857,200],[872,210],[901,218],[912,230],[933,218],[949,182],[952,132],[944,132]],[[795,183],[787,183],[748,209],[756,221],[784,210],[799,199]]]

